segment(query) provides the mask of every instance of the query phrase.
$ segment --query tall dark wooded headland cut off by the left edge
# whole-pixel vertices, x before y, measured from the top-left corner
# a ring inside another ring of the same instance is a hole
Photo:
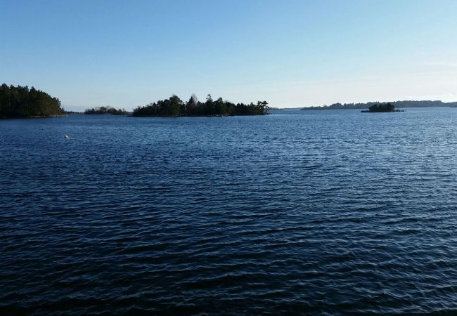
[[[58,98],[28,86],[0,86],[0,118],[55,117],[65,114]]]

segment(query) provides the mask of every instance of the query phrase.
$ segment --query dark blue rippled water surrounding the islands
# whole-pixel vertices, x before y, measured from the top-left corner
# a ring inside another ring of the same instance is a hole
[[[0,121],[0,314],[456,313],[457,110],[295,113]]]

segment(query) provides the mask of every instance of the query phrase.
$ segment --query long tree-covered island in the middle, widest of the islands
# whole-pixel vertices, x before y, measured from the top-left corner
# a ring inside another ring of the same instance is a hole
[[[268,103],[259,101],[257,104],[231,103],[218,98],[212,100],[209,94],[206,101],[200,102],[193,94],[188,102],[183,102],[177,96],[171,96],[166,100],[160,100],[144,107],[136,107],[136,117],[210,117],[228,115],[262,115],[268,114]]]

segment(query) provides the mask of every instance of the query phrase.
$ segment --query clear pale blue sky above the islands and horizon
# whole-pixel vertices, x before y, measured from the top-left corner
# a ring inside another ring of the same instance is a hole
[[[0,17],[0,81],[67,110],[457,100],[455,0],[0,0]]]

